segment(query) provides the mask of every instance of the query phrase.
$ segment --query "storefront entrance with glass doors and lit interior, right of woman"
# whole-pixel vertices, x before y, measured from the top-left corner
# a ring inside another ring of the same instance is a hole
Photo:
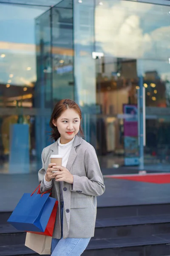
[[[161,77],[164,70],[169,70],[169,64],[155,61],[153,65],[150,61],[140,60],[139,67],[139,60],[109,56],[97,57],[95,61],[96,102],[99,106],[96,149],[102,167],[125,169],[128,166],[130,171],[130,166],[133,169],[136,166],[136,170],[168,172],[170,83]],[[139,75],[141,69],[142,78]],[[140,86],[144,94],[141,108]],[[144,113],[140,133],[141,109]]]

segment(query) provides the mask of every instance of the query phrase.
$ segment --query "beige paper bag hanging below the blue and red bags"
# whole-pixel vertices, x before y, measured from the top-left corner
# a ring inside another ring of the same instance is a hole
[[[51,236],[26,233],[25,245],[39,254],[51,254]]]

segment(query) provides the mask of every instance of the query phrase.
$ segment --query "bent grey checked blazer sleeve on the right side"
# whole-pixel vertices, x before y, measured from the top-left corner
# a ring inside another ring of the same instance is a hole
[[[92,145],[85,151],[84,165],[87,177],[73,175],[74,181],[71,191],[85,195],[102,195],[105,192],[105,185],[96,151]]]

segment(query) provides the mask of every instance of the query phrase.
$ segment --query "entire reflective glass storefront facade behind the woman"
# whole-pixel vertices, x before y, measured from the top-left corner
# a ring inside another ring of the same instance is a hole
[[[0,3],[0,173],[37,172],[51,111],[64,98],[80,105],[104,174],[141,160],[168,171],[170,1],[15,3]]]

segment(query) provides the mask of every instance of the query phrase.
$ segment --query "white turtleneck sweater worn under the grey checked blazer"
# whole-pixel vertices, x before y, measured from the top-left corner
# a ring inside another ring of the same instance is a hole
[[[74,138],[73,138],[73,140],[71,140],[70,142],[68,142],[66,144],[61,144],[60,138],[58,140],[58,154],[62,156],[62,166],[64,166],[64,167],[67,166],[68,157],[70,155],[70,151],[73,146]],[[55,181],[55,182],[58,182],[58,181]],[[52,180],[51,181],[45,180],[45,175],[44,175],[43,183],[46,188],[49,188],[52,185]],[[62,195],[63,181],[59,181],[59,183],[60,183],[59,184],[60,185],[60,201],[63,201],[63,195]]]

